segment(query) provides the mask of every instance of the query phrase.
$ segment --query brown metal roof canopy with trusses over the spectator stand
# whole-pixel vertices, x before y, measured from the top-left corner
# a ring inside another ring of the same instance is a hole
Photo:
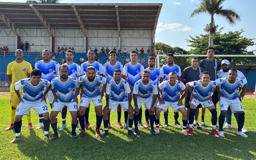
[[[163,4],[28,4],[0,2],[16,28],[153,29],[155,36]],[[83,27],[84,26],[84,27]],[[0,28],[9,27],[0,20]]]

